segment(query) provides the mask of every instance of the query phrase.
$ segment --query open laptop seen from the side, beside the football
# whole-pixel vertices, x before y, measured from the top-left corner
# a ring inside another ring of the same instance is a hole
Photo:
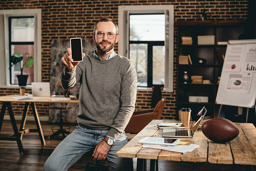
[[[196,133],[199,125],[205,117],[207,110],[202,107],[201,111],[197,113],[197,121],[193,124],[191,129],[164,129],[162,131],[162,137],[180,137],[180,138],[192,138]]]

